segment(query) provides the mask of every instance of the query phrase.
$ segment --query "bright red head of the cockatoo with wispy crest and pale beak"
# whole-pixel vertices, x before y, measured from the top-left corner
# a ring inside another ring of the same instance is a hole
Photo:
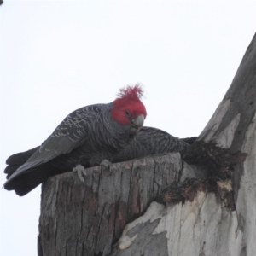
[[[136,134],[146,119],[147,112],[140,101],[143,96],[143,89],[139,84],[127,86],[119,90],[118,98],[113,102],[111,109],[112,118],[119,125],[131,125],[131,133]]]

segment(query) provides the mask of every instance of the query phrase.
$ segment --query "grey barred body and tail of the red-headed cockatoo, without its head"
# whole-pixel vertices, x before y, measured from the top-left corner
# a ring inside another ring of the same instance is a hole
[[[133,138],[130,125],[119,125],[111,118],[112,107],[113,102],[79,108],[56,127],[23,165],[19,166],[19,154],[13,157],[16,162],[12,162],[10,157],[7,160],[10,166],[5,170],[9,179],[4,188],[11,190],[20,187],[22,190],[26,183],[32,188],[49,176],[71,171],[76,164],[89,167],[97,166],[105,159],[112,161],[113,156]],[[19,179],[24,181],[20,182]],[[19,195],[24,193],[18,192]]]

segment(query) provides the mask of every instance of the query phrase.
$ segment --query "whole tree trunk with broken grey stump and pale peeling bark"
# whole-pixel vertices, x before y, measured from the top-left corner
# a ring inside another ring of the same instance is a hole
[[[38,255],[254,255],[256,35],[184,160],[165,154],[44,183]]]

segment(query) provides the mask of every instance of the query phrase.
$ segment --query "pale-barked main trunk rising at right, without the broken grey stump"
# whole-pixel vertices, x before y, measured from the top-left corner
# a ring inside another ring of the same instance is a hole
[[[152,255],[150,252],[154,250],[154,240],[160,234],[165,236],[161,236],[161,247],[154,255],[255,255],[256,35],[224,100],[201,132],[198,141],[198,144],[203,141],[210,145],[208,151],[206,147],[202,149],[198,160],[206,154],[213,162],[218,157],[217,167],[215,166],[215,193],[209,193],[205,186],[190,201],[188,195],[188,201],[184,204],[179,202],[165,207],[153,202],[143,216],[125,226],[119,239],[119,247],[114,248],[110,255]],[[224,152],[227,160],[215,154],[215,145],[220,147],[219,151]],[[246,160],[246,154],[234,154],[237,151],[247,153]],[[245,161],[241,160],[239,163],[239,158],[244,158]],[[230,162],[234,159],[238,164],[232,166]],[[219,163],[221,160],[224,163]],[[225,171],[226,176],[218,177]],[[228,172],[231,172],[231,180]],[[225,179],[221,180],[221,177]],[[180,194],[184,194],[185,189]],[[166,194],[167,200],[177,195],[177,191],[174,191],[175,194],[172,188],[169,190],[171,195]],[[230,195],[233,194],[235,199],[231,205],[234,207],[230,207]],[[145,234],[143,229],[150,227],[152,230]],[[142,245],[146,247],[143,253]]]

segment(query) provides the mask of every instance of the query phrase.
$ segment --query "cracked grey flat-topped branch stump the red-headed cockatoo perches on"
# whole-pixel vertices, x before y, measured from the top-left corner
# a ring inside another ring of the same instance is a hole
[[[50,177],[43,186],[38,255],[110,253],[127,222],[183,178],[179,153]],[[193,175],[192,172],[189,175]]]

